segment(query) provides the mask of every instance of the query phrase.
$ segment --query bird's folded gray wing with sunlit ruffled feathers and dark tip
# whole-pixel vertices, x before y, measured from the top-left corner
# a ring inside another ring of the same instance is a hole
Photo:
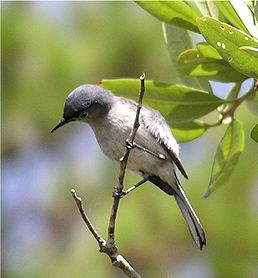
[[[163,116],[155,110],[142,107],[141,124],[150,132],[157,142],[167,151],[182,175],[188,179],[186,171],[179,158],[179,146],[173,137]]]

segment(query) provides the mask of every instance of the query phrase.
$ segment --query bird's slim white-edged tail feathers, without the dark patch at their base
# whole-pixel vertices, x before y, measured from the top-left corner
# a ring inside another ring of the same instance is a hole
[[[180,186],[179,189],[180,193],[176,193],[174,197],[188,225],[193,240],[200,250],[202,250],[203,245],[206,245],[206,238],[202,225]]]

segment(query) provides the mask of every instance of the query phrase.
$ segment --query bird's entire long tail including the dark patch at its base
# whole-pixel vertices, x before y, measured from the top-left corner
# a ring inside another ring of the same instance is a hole
[[[191,204],[189,203],[176,175],[175,178],[177,182],[176,190],[173,189],[171,185],[161,180],[158,176],[150,176],[149,181],[158,186],[167,194],[174,195],[176,202],[184,216],[186,224],[188,225],[193,240],[196,242],[200,250],[202,250],[203,245],[206,245],[204,230]]]

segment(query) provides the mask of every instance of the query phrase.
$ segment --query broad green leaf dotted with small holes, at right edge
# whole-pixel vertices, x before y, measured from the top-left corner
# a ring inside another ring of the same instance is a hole
[[[210,17],[197,19],[198,27],[207,42],[217,49],[225,61],[235,70],[258,77],[258,52],[241,49],[258,47],[258,42],[248,34]]]

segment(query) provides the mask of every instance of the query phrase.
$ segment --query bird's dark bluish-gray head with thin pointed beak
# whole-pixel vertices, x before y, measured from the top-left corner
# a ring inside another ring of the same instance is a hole
[[[88,84],[79,86],[68,95],[63,117],[51,132],[71,121],[89,123],[100,119],[110,110],[113,98],[111,91],[99,86]]]

